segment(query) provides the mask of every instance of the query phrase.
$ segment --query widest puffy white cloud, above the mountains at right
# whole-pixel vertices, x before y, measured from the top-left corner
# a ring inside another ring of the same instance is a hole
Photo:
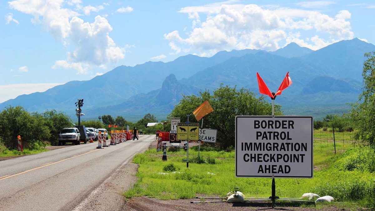
[[[169,46],[173,50],[171,54],[181,53],[182,49],[184,52],[185,49],[198,51],[201,56],[244,48],[276,50],[280,43],[293,39],[317,49],[354,37],[349,21],[351,14],[347,10],[339,11],[331,17],[318,11],[233,3],[181,8],[178,12],[186,13],[192,20],[192,30],[186,32],[186,37],[177,30],[164,34],[164,38],[170,41]],[[314,4],[317,7],[330,3],[320,1]],[[310,2],[311,7],[314,4]],[[305,2],[304,6],[308,4]],[[205,16],[203,22],[202,15]],[[314,30],[322,36],[303,39],[295,36],[307,30]]]

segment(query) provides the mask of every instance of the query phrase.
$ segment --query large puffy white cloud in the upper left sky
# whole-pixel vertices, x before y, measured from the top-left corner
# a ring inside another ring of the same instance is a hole
[[[72,68],[82,74],[92,65],[105,65],[124,58],[124,48],[118,47],[109,36],[112,27],[105,17],[98,15],[93,23],[84,22],[78,17],[80,14],[62,7],[63,0],[15,0],[8,3],[12,9],[33,15],[31,21],[34,24],[41,24],[69,49],[67,58],[57,60],[52,66],[54,69]],[[80,4],[81,1],[71,0],[69,3]],[[85,13],[96,9],[89,8]]]

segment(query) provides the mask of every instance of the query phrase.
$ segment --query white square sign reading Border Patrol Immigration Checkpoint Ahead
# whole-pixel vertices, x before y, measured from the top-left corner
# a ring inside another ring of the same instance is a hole
[[[313,177],[311,116],[236,116],[237,177]]]

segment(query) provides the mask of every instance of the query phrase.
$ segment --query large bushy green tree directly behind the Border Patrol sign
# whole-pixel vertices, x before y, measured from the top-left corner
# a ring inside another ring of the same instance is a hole
[[[214,111],[204,117],[203,127],[217,129],[217,144],[220,148],[234,146],[237,115],[272,115],[272,104],[264,96],[257,98],[248,89],[237,90],[236,87],[220,85],[212,95],[205,90],[198,96],[183,96],[168,118],[179,117],[181,122],[186,122],[186,115],[191,114],[205,100],[210,102]],[[275,115],[282,115],[280,105],[275,105]],[[197,122],[193,115],[189,121]]]

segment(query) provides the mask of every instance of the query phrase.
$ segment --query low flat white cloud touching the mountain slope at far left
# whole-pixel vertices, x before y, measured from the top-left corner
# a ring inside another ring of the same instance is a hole
[[[19,76],[19,75],[13,75]],[[14,99],[19,95],[27,95],[34,92],[44,92],[61,83],[36,83],[36,84],[9,84],[0,85],[0,103],[8,99]]]

